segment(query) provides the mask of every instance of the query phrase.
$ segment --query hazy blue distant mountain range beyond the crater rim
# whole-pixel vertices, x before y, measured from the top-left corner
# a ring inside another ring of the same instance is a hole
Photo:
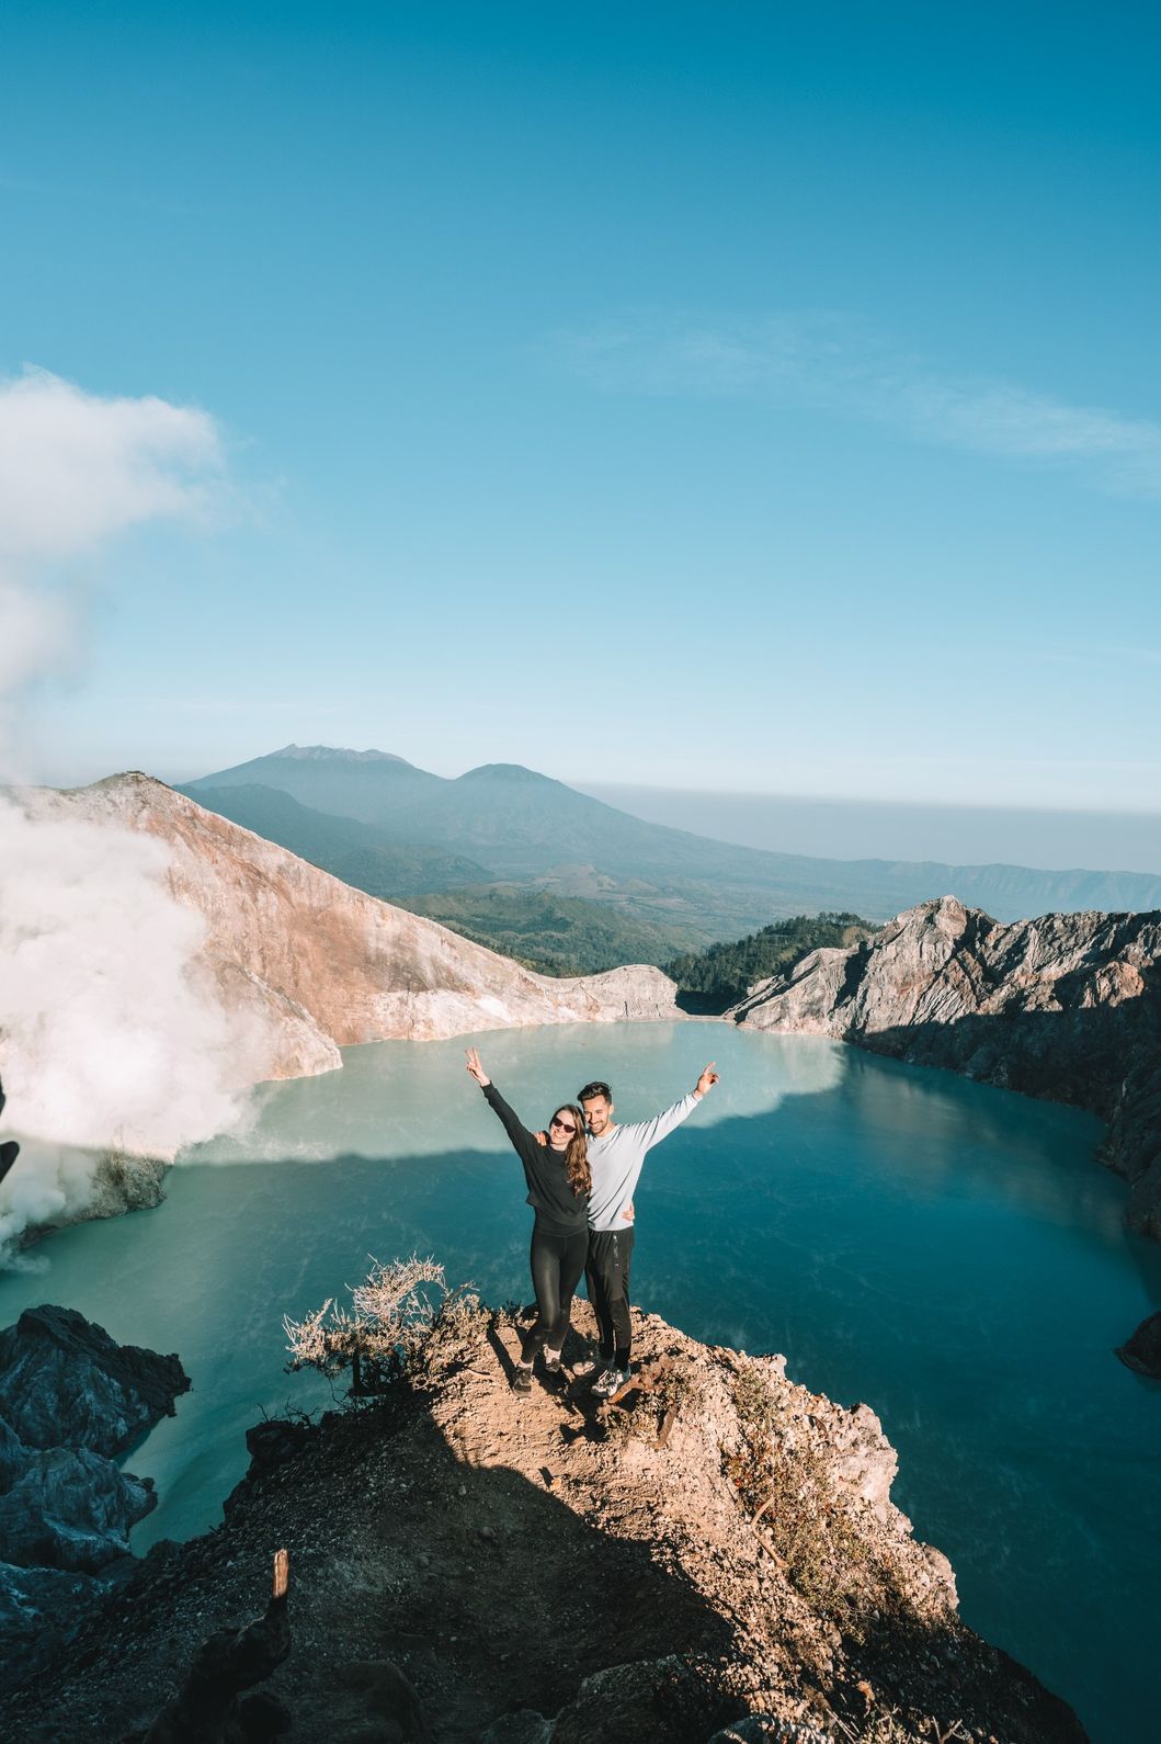
[[[887,919],[948,891],[1002,921],[1053,910],[1161,907],[1161,877],[1149,874],[825,860],[739,848],[645,823],[519,764],[485,764],[448,780],[385,752],[288,745],[190,781],[183,792],[199,800],[204,795],[213,807],[227,788],[249,788],[244,806],[258,807],[258,787],[322,813],[322,821],[309,820],[310,828],[322,835],[333,830],[336,841],[343,823],[335,820],[354,820],[375,828],[380,848],[443,851],[476,862],[492,879],[610,903],[650,926],[682,926],[687,938],[730,938],[774,917],[819,909]],[[241,821],[242,809],[234,800],[230,814]],[[256,818],[256,809],[249,816]],[[267,821],[282,828],[270,807]],[[256,821],[253,827],[261,830]]]

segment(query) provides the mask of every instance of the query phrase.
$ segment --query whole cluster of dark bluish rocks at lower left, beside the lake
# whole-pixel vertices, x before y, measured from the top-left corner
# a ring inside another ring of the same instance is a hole
[[[152,1479],[115,1463],[188,1390],[176,1357],[115,1345],[70,1308],[0,1332],[0,1645],[44,1664],[129,1554]],[[98,1578],[101,1577],[101,1578]]]

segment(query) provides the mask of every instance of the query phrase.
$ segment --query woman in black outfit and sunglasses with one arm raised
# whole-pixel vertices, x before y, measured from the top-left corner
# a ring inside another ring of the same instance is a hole
[[[516,1364],[513,1388],[532,1392],[532,1366],[544,1350],[544,1367],[560,1374],[560,1352],[572,1315],[572,1292],[580,1282],[589,1250],[589,1172],[584,1114],[572,1102],[561,1102],[547,1128],[547,1144],[521,1127],[497,1087],[492,1083],[476,1048],[467,1050],[467,1071],[504,1123],[513,1149],[525,1165],[528,1203],[535,1209],[532,1226],[532,1287],[537,1292],[537,1320]]]

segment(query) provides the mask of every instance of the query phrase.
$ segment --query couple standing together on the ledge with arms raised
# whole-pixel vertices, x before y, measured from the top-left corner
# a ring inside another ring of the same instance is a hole
[[[654,1120],[631,1127],[614,1121],[612,1090],[594,1081],[561,1102],[547,1134],[528,1132],[479,1062],[467,1050],[467,1071],[500,1116],[513,1149],[525,1165],[532,1226],[532,1285],[537,1320],[525,1338],[513,1386],[532,1392],[532,1366],[544,1352],[549,1374],[560,1374],[560,1353],[572,1313],[572,1292],[586,1273],[600,1331],[601,1362],[593,1392],[610,1399],[631,1374],[629,1264],[633,1261],[633,1191],[645,1153],[659,1144],[701,1099],[718,1074],[713,1060],[689,1095]]]

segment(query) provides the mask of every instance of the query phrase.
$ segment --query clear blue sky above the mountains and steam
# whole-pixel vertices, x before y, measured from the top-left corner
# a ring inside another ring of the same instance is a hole
[[[1159,809],[1159,38],[9,10],[0,375],[220,439],[204,513],[38,563],[38,767]]]

